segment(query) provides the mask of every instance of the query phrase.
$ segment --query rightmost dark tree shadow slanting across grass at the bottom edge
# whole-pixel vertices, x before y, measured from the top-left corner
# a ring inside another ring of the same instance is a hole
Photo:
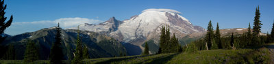
[[[177,53],[177,54],[179,54],[179,53]],[[168,61],[170,61],[173,57],[175,57],[177,54],[171,54],[170,56],[167,56],[167,57],[162,57],[162,58],[159,58],[159,59],[153,59],[153,61],[151,61],[147,64],[165,64]]]

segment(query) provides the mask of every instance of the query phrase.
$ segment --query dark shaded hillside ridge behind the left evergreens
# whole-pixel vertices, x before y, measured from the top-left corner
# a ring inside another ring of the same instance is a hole
[[[16,50],[16,59],[23,59],[27,39],[32,39],[39,47],[40,59],[49,59],[51,46],[54,42],[55,27],[45,28],[39,31],[14,35],[5,39],[3,45],[14,45]],[[75,42],[77,30],[62,30],[62,48],[64,59],[73,59],[75,51]],[[117,42],[116,39],[108,37],[105,34],[95,33],[90,31],[80,31],[80,37],[84,46],[88,47],[91,58],[98,57],[114,57],[120,53],[126,54],[125,47]]]

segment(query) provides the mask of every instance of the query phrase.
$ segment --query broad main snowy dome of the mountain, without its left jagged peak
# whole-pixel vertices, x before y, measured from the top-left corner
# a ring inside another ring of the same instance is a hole
[[[175,10],[144,10],[142,14],[124,20],[117,31],[111,35],[120,37],[122,42],[136,42],[136,39],[143,41],[160,36],[160,29],[163,25],[169,25],[171,33],[177,37],[184,37],[191,33],[203,33],[206,30],[180,16]],[[141,42],[143,42],[141,41]]]

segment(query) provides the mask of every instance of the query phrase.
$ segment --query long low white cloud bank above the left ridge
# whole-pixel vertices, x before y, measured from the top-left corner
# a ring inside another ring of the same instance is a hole
[[[5,33],[9,35],[17,35],[25,32],[38,31],[40,29],[56,27],[60,23],[62,29],[77,27],[78,25],[89,23],[89,24],[99,24],[103,22],[101,20],[89,19],[89,18],[60,18],[56,20],[40,20],[33,22],[12,22],[12,25],[8,27]]]

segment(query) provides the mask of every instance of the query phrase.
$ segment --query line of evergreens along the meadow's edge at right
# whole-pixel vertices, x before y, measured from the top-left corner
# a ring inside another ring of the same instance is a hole
[[[271,34],[261,35],[261,23],[259,6],[256,7],[256,14],[253,20],[253,28],[250,23],[247,32],[240,35],[230,33],[229,37],[221,37],[219,23],[217,22],[216,31],[214,32],[212,22],[208,23],[206,36],[191,42],[188,46],[184,46],[184,52],[189,50],[214,50],[214,49],[237,49],[237,48],[256,48],[262,44],[274,42],[274,22]],[[194,45],[194,46],[193,46]]]

